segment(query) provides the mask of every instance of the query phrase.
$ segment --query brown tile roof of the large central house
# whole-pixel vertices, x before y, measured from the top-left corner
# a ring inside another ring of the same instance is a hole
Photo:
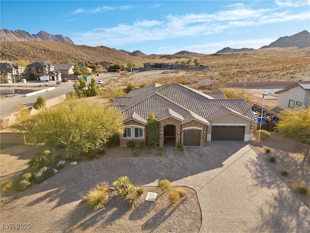
[[[244,99],[214,99],[201,91],[178,83],[163,86],[153,84],[151,87],[147,86],[140,91],[131,92],[130,96],[131,98],[123,102],[121,102],[121,98],[118,99],[119,97],[113,101],[113,104],[115,102],[114,105],[122,105],[119,107],[126,116],[135,112],[147,119],[149,114],[153,112],[155,116],[161,118],[171,114],[171,116],[179,119],[183,117],[184,121],[195,119],[209,124],[208,119],[210,117],[228,111],[223,108],[224,106],[231,112],[257,121],[257,117]]]

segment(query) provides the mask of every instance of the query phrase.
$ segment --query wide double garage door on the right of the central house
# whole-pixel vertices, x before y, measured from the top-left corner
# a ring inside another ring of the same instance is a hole
[[[212,126],[211,141],[243,141],[245,126]]]

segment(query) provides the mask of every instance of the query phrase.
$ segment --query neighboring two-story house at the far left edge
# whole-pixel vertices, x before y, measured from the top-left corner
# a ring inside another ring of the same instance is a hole
[[[0,63],[0,83],[18,83],[24,79],[25,68],[7,62]]]

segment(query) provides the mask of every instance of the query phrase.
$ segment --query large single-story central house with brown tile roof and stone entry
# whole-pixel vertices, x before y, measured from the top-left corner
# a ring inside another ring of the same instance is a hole
[[[226,99],[223,93],[205,94],[178,83],[135,89],[127,96],[115,97],[112,105],[126,117],[121,146],[131,140],[146,141],[151,113],[159,123],[159,146],[168,141],[184,146],[205,146],[206,141],[251,141],[257,122],[244,99]]]

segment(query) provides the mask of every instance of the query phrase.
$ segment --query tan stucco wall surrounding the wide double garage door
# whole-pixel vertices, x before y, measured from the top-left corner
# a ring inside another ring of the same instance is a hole
[[[244,141],[252,141],[253,139],[253,130],[254,130],[254,122],[247,120],[245,118],[242,118],[241,116],[237,116],[233,113],[226,114],[224,116],[217,117],[213,120],[209,120],[211,123],[211,126],[207,129],[207,141],[211,141],[211,131],[212,131],[212,125],[215,124],[222,124],[222,125],[245,125],[245,138]],[[253,126],[252,129],[250,129],[250,126]]]

